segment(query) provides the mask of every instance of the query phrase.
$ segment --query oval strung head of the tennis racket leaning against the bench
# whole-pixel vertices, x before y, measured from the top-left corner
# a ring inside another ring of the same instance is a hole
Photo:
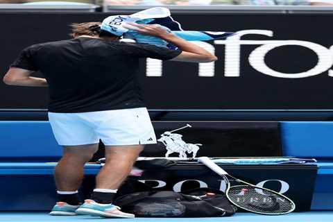
[[[230,187],[227,195],[234,205],[251,212],[284,214],[294,207],[288,198],[259,187],[234,186]]]

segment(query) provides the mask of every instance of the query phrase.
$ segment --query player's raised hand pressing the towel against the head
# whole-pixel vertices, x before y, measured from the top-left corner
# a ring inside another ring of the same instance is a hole
[[[123,24],[124,28],[128,28],[134,31],[138,31],[143,35],[154,35],[157,37],[164,37],[165,35],[172,35],[164,28],[157,25],[137,24],[135,22],[126,22]]]

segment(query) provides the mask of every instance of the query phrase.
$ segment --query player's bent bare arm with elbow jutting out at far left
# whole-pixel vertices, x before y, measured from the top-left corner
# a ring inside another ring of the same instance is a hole
[[[3,77],[3,82],[7,85],[47,87],[45,78],[31,76],[35,71],[11,67]]]

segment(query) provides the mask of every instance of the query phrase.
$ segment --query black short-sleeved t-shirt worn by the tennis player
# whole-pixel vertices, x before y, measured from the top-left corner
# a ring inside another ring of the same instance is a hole
[[[169,60],[181,53],[150,44],[78,37],[30,46],[11,65],[40,71],[49,83],[50,112],[144,107],[139,58]]]

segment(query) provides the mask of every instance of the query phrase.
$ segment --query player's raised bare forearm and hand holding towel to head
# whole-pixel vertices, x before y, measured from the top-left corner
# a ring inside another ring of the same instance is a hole
[[[136,23],[128,23],[129,26],[126,28],[133,29],[142,33],[144,35],[154,35],[156,37],[160,37],[171,44],[178,46],[179,49],[182,50],[179,56],[171,59],[171,61],[179,61],[179,62],[213,62],[216,61],[217,58],[209,51],[193,44],[191,42],[187,42],[186,40],[173,35],[173,33],[169,33],[164,28],[160,28],[156,25],[146,25],[146,24],[136,24]]]

